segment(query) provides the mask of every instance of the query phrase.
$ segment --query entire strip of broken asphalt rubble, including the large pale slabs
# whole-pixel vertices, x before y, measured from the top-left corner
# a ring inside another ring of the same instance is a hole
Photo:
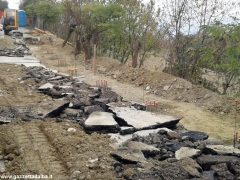
[[[79,123],[87,133],[108,134],[114,142],[111,156],[116,178],[240,178],[240,150],[208,139],[203,132],[186,130],[180,118],[147,112],[143,105],[122,101],[109,88],[84,83],[84,77],[43,67],[25,70],[21,81],[34,82],[33,88],[51,100],[12,110],[9,118],[66,119]],[[0,116],[6,117],[4,112]]]

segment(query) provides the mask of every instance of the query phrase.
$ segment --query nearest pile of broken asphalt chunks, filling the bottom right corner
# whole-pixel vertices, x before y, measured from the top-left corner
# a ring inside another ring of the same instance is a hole
[[[207,140],[205,133],[186,135],[184,131],[159,129],[149,134],[139,131],[127,135],[129,139],[118,144],[112,153],[118,160],[115,164],[117,177],[212,180],[240,177],[239,149]],[[115,139],[120,138],[115,136]]]

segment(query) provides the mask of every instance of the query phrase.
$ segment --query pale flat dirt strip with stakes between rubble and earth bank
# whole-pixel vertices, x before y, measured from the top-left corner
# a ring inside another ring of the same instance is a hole
[[[73,67],[72,47],[61,47],[61,40],[56,40],[54,46],[45,44],[43,46],[32,46],[31,50],[41,63],[60,72],[68,73],[69,68]],[[143,102],[143,90],[128,83],[121,83],[115,79],[105,77],[101,74],[93,75],[92,71],[85,70],[83,67],[83,57],[76,62],[78,75],[84,75],[85,81],[95,85],[97,80],[108,81],[109,87],[120,94],[124,99]],[[64,61],[67,66],[59,66],[59,61]],[[161,103],[161,109],[166,109],[168,113],[182,116],[183,125],[191,130],[198,130],[208,133],[211,137],[221,139],[227,143],[232,142],[234,119],[227,115],[219,115],[207,111],[195,103],[184,103],[175,100],[168,100],[146,94],[144,101],[154,100]],[[239,129],[240,130],[240,129]]]

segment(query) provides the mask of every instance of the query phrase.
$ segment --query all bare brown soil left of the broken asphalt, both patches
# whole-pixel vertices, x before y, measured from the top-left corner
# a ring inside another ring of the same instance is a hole
[[[1,64],[2,116],[14,118],[15,110],[51,100],[34,90],[36,82],[30,79],[21,82],[24,75],[24,67]],[[69,128],[76,132],[69,132]],[[108,136],[88,135],[71,121],[14,119],[0,126],[0,157],[6,166],[0,175],[38,174],[55,180],[109,179],[114,177],[110,143]]]

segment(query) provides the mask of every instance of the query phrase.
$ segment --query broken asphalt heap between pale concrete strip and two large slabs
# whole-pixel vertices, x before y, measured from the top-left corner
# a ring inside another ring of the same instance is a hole
[[[37,91],[53,100],[49,107],[49,101],[36,105],[34,118],[55,117],[83,124],[91,113],[107,111],[107,103],[121,99],[111,90],[89,86],[83,77],[57,74],[43,67],[28,67],[26,71],[21,80],[35,82]]]

